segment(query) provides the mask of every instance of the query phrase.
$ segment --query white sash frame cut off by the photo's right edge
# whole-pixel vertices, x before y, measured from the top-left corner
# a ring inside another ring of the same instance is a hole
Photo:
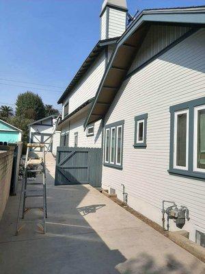
[[[194,119],[193,119],[193,171],[205,173],[205,169],[197,167],[197,136],[198,136],[198,111],[205,110],[205,105],[200,105],[194,108]]]

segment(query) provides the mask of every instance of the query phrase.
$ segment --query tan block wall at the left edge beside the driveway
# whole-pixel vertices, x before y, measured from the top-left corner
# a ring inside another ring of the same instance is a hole
[[[0,220],[10,195],[14,151],[0,151]]]

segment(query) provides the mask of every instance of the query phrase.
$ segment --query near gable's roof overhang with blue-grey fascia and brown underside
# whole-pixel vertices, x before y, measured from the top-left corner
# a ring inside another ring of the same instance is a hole
[[[199,27],[205,24],[205,7],[143,10],[118,39],[84,127],[102,119],[109,110],[149,26],[153,23]]]

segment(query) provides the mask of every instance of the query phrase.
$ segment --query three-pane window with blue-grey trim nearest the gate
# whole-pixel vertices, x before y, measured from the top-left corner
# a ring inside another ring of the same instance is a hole
[[[105,126],[104,164],[122,169],[124,121]]]

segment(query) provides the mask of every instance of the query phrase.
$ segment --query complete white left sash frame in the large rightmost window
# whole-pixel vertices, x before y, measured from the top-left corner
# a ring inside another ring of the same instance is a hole
[[[177,121],[178,115],[187,114],[187,140],[186,140],[186,166],[178,166],[176,164],[176,150],[177,150]],[[174,169],[182,169],[188,171],[189,164],[189,110],[179,110],[174,112]]]

